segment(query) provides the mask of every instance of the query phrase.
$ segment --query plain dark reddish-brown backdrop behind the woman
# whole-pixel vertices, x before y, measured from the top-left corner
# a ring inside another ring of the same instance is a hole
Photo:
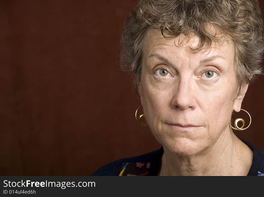
[[[91,175],[161,146],[137,124],[133,78],[119,69],[136,3],[0,1],[0,175]],[[250,85],[252,125],[236,132],[261,151],[263,85]]]

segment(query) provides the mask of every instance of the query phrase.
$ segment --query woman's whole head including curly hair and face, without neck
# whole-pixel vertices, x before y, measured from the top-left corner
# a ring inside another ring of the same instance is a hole
[[[230,134],[232,111],[261,73],[262,32],[254,0],[140,1],[122,35],[122,65],[162,145],[193,155]]]

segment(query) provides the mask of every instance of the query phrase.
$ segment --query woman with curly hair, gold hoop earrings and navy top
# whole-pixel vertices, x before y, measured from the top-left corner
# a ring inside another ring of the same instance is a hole
[[[248,126],[230,121],[246,113],[248,84],[261,73],[258,1],[142,0],[121,41],[122,68],[135,75],[144,111],[136,118],[162,148],[93,175],[264,175],[264,154],[232,132],[251,118]]]

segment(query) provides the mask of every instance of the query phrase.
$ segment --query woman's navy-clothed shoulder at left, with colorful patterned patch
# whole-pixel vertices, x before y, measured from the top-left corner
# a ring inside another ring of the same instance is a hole
[[[158,151],[159,150],[155,150],[140,156],[113,161],[96,170],[92,176],[122,176],[125,169],[130,169],[130,172],[134,172],[131,174],[131,176],[134,174],[146,175],[152,158]],[[126,175],[129,176],[130,174]]]

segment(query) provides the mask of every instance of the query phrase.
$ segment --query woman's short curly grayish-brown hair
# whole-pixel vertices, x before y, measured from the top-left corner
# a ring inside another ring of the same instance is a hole
[[[212,33],[208,24],[220,33]],[[194,51],[229,37],[239,87],[262,74],[263,21],[258,0],[140,0],[125,22],[120,55],[122,70],[135,75],[138,97],[144,37],[150,28],[160,29],[165,38],[199,36]]]

